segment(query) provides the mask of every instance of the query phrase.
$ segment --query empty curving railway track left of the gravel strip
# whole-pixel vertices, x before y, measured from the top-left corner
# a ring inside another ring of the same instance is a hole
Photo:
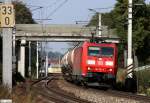
[[[58,86],[56,86],[57,80],[60,79],[60,76],[52,75],[48,78],[44,78],[38,81],[35,81],[32,84],[34,91],[37,94],[48,101],[54,103],[90,103],[87,100],[83,100],[75,97],[73,94],[69,94],[65,91],[62,91]]]

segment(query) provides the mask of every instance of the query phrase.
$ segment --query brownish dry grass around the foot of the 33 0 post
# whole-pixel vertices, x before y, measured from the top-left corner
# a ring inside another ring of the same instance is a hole
[[[14,103],[36,103],[33,100],[34,92],[28,91],[25,83],[18,82],[13,86],[12,92],[2,86],[2,65],[0,64],[0,99],[12,99]]]

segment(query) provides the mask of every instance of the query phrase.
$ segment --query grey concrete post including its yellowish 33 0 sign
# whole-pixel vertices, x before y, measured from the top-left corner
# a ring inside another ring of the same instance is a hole
[[[3,0],[0,5],[0,27],[3,37],[3,85],[12,89],[12,28],[15,25],[14,8],[11,0]]]

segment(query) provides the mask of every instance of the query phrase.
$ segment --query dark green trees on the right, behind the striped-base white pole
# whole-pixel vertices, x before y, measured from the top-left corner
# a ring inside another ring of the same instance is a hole
[[[143,4],[143,5],[134,5]],[[97,25],[98,16],[94,15],[89,25]],[[127,42],[128,0],[117,0],[110,13],[102,14],[102,24],[115,29],[116,34]],[[150,57],[150,5],[145,0],[133,0],[133,49],[138,59],[146,63]]]

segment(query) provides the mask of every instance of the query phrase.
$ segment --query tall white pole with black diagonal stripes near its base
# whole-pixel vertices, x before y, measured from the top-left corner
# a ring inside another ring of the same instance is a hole
[[[133,67],[133,58],[132,58],[132,0],[128,0],[128,58],[127,58],[127,66],[128,69],[128,78],[132,78],[132,67]],[[130,66],[132,65],[132,66]]]

